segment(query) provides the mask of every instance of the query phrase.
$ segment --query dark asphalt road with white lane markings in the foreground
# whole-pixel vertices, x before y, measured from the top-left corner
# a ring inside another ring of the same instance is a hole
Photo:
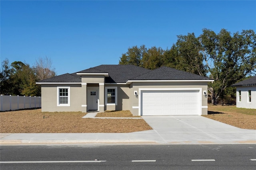
[[[255,170],[255,144],[0,146],[1,170]]]

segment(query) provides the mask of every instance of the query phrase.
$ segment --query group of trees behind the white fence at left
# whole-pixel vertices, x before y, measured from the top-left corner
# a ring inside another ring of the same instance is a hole
[[[54,77],[55,69],[48,57],[39,57],[34,66],[21,61],[12,63],[6,58],[0,70],[0,93],[2,95],[41,96],[41,86],[36,81]]]

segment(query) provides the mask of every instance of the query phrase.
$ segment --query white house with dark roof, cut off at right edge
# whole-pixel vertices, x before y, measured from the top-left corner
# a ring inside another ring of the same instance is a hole
[[[256,77],[231,86],[236,87],[236,107],[256,109]]]

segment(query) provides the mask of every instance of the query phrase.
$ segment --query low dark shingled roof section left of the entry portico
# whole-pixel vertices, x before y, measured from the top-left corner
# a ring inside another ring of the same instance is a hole
[[[41,81],[38,81],[38,84],[41,83],[81,83],[81,76],[77,75],[76,73],[66,73],[62,75],[57,75],[55,77],[44,79]]]

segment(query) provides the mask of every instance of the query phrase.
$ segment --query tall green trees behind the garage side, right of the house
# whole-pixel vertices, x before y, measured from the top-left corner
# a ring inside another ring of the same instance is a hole
[[[256,35],[253,30],[231,34],[226,29],[218,34],[203,29],[177,36],[170,49],[132,46],[120,57],[119,64],[132,64],[147,69],[168,66],[214,79],[208,83],[210,102],[235,103],[236,89],[230,85],[256,73]]]

